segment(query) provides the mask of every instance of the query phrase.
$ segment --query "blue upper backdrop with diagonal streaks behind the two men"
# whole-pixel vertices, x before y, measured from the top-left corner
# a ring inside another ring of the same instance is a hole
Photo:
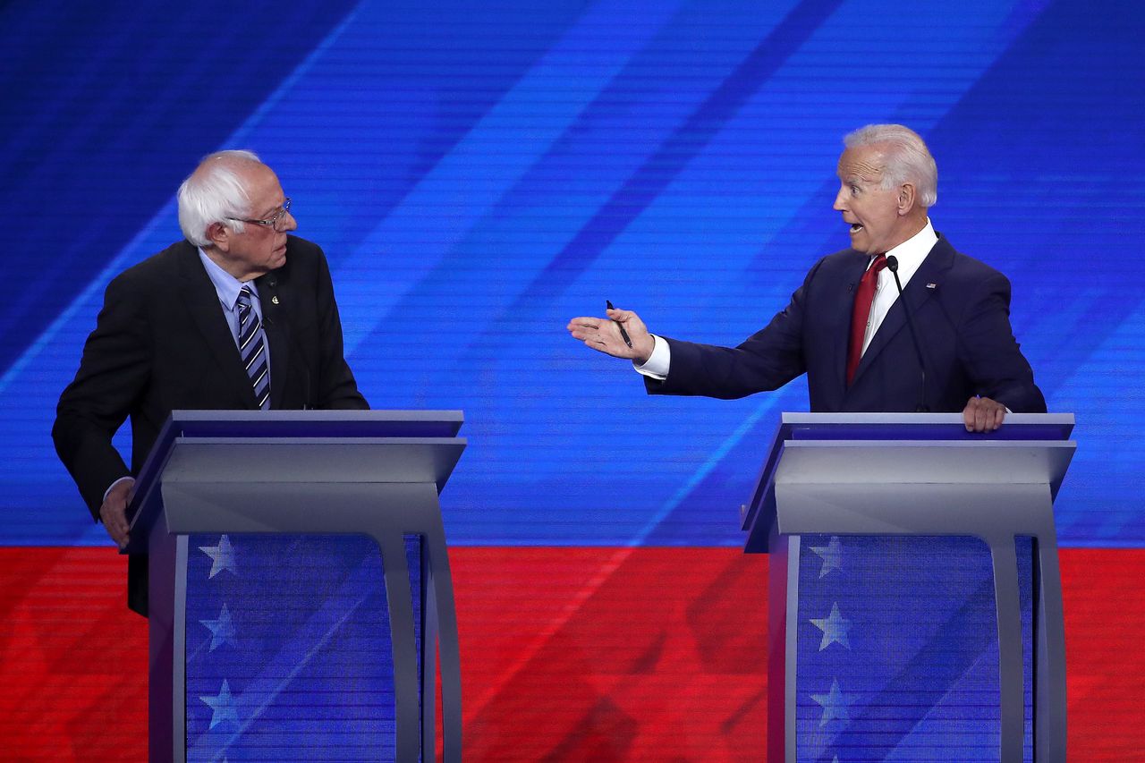
[[[0,7],[0,543],[104,544],[48,431],[111,276],[251,148],[330,258],[374,408],[460,408],[453,544],[740,543],[802,382],[648,399],[606,298],[721,344],[846,245],[842,135],[901,121],[935,227],[1014,284],[1080,442],[1065,545],[1145,544],[1145,11],[1135,2],[17,0]]]

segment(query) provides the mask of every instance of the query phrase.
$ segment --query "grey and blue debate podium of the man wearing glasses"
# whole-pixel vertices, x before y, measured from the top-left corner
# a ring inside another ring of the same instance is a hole
[[[136,481],[150,760],[460,761],[460,411],[174,411]]]

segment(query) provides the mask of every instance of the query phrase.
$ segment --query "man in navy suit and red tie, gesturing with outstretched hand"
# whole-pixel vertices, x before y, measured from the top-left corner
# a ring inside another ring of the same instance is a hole
[[[844,143],[835,210],[851,247],[819,260],[761,331],[734,348],[700,345],[610,309],[574,318],[572,337],[631,359],[652,394],[742,398],[806,373],[813,411],[962,411],[976,432],[996,430],[1008,410],[1044,412],[1010,328],[1009,281],[931,227],[938,171],[922,137],[868,125]]]

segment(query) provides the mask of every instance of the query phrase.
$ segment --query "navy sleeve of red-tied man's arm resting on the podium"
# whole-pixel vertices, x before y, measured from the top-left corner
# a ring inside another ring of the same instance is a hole
[[[1044,414],[1045,398],[1010,327],[1010,281],[994,272],[964,313],[958,331],[960,360],[977,394],[1016,414]]]

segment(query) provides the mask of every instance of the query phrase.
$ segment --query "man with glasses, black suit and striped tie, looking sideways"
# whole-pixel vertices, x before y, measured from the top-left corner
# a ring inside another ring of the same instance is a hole
[[[93,516],[127,543],[126,508],[176,409],[365,409],[342,355],[322,250],[297,228],[278,178],[248,151],[206,157],[179,189],[187,241],[117,276],[52,430]],[[132,466],[111,438],[132,420]],[[128,606],[147,614],[147,557],[128,559]]]

